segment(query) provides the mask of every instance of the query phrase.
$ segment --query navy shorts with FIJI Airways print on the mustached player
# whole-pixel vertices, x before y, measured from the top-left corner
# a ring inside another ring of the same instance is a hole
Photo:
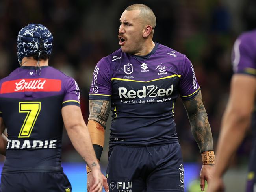
[[[184,192],[179,143],[109,149],[109,192]]]

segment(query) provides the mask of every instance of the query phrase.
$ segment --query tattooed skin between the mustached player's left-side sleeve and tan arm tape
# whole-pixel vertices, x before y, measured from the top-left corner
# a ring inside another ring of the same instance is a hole
[[[106,129],[106,122],[110,113],[110,101],[89,100],[89,120],[94,120]]]

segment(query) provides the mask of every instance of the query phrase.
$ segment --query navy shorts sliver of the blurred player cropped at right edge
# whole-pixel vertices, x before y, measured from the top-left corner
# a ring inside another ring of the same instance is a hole
[[[246,192],[256,191],[256,140],[252,143],[250,153],[249,172],[247,176]]]

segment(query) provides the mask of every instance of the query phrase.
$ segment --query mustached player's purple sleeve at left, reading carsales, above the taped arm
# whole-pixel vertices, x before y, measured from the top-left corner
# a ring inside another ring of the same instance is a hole
[[[93,72],[93,80],[89,99],[91,100],[111,100],[112,83],[111,83],[111,66],[102,58],[96,65]]]

